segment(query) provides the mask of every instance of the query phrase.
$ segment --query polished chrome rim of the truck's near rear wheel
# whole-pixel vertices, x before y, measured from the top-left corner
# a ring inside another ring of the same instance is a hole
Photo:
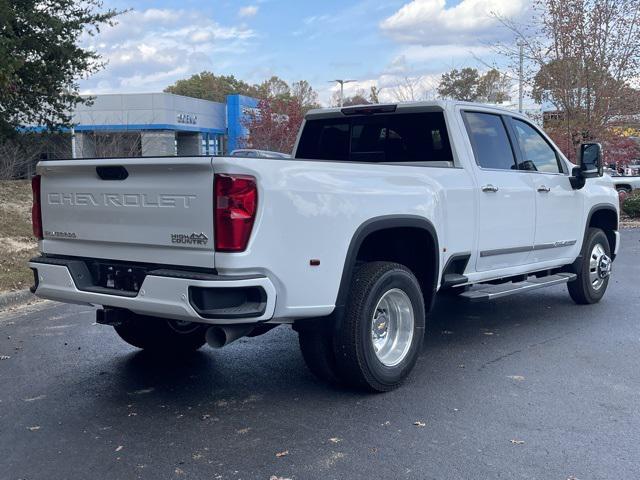
[[[393,367],[405,359],[414,323],[413,305],[405,292],[394,288],[380,298],[371,318],[371,342],[380,363]]]

